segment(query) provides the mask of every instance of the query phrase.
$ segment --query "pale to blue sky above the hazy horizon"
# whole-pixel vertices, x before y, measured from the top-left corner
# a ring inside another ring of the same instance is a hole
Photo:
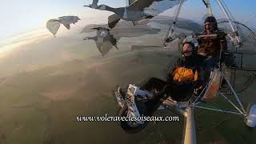
[[[24,33],[46,25],[50,18],[58,18],[62,15],[94,14],[94,10],[85,10],[84,4],[89,4],[90,0],[2,0],[0,5],[1,29],[0,38]],[[215,16],[223,17],[215,0],[213,8]],[[254,10],[256,1],[254,0],[225,0],[230,7],[231,13],[238,21],[246,22],[256,16]],[[99,0],[109,6],[125,6],[125,0]],[[170,14],[172,11],[170,10]],[[205,7],[201,0],[188,0],[182,9],[182,17],[198,21],[205,14]],[[170,14],[172,15],[172,14]],[[247,23],[251,27],[256,27],[256,18]]]

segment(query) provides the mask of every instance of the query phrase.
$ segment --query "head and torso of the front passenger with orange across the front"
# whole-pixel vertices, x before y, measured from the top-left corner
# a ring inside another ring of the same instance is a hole
[[[172,98],[179,99],[184,90],[187,90],[187,94],[193,93],[206,82],[203,65],[206,57],[198,54],[196,44],[198,44],[196,40],[190,38],[182,42],[182,57],[178,58],[167,78],[167,82],[173,86]]]

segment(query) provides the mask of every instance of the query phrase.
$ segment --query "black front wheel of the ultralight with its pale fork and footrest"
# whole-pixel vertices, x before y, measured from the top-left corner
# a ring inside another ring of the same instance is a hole
[[[157,82],[158,85],[155,86],[156,83],[154,82]],[[164,93],[166,86],[160,84],[165,84],[165,82],[157,78],[151,78],[142,87],[130,84],[126,93],[121,87],[118,87],[115,96],[119,106],[122,107],[118,116],[121,118],[121,127],[126,133],[134,134],[143,130],[148,124],[146,118],[154,114],[162,104],[162,98],[166,99]],[[159,90],[163,89],[164,92],[158,92],[158,88]],[[154,90],[155,93],[148,90]]]

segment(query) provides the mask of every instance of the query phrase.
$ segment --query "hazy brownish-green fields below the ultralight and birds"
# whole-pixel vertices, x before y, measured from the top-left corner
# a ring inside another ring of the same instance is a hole
[[[102,57],[94,42],[79,38],[64,47],[59,42],[68,38],[44,40],[1,59],[0,144],[182,143],[182,117],[180,122],[151,122],[138,134],[126,134],[118,122],[76,120],[78,115],[116,115],[115,86],[163,78],[166,66],[179,55],[177,49],[130,51],[130,42],[159,45],[159,35],[123,38],[121,50]],[[254,92],[255,85],[241,94],[245,104],[256,102]],[[230,107],[222,98],[208,104]],[[195,118],[199,144],[256,143],[256,130],[238,116],[196,110]]]

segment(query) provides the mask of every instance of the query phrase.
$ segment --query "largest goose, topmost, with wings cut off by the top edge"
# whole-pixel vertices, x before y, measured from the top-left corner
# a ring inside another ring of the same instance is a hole
[[[103,4],[98,6],[98,0],[93,0],[92,5],[87,7],[114,12],[108,18],[108,25],[112,29],[120,19],[136,22],[153,18],[178,3],[179,0],[129,0],[129,6],[113,8]]]

